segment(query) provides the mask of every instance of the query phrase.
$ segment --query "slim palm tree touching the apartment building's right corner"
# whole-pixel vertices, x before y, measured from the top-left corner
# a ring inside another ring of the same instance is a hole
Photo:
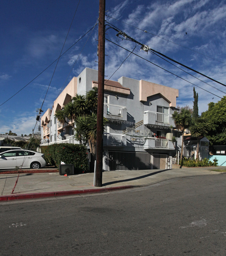
[[[181,137],[181,160],[182,160],[183,147],[184,147],[184,130],[190,126],[192,116],[187,109],[181,108],[180,112],[174,111],[174,113],[172,114],[172,118],[176,128],[181,130],[182,132],[182,137]]]

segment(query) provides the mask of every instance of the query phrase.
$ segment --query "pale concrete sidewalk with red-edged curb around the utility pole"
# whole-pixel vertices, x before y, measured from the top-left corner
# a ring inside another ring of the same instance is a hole
[[[178,177],[217,175],[224,166],[195,167],[171,170],[129,170],[103,172],[102,187],[93,186],[93,173],[61,176],[57,172],[41,174],[0,174],[0,201],[99,193],[138,186],[147,186]]]

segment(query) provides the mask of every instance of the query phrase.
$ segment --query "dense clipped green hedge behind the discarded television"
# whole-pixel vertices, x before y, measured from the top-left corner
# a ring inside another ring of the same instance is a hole
[[[45,161],[50,165],[59,167],[60,162],[74,164],[76,173],[88,171],[87,149],[79,144],[52,144],[41,146],[41,152],[45,156]]]

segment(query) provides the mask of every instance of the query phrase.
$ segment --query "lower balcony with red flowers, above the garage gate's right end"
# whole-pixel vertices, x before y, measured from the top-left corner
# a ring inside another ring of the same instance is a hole
[[[144,143],[144,149],[169,149],[174,150],[171,140],[160,138],[148,138]]]

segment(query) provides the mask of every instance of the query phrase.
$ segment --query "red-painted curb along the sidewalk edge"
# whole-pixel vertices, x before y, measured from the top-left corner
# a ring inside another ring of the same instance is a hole
[[[70,190],[70,191],[58,191],[58,192],[15,194],[15,195],[8,195],[8,196],[0,196],[0,202],[24,200],[24,199],[37,199],[37,198],[46,198],[46,197],[71,196],[75,194],[103,193],[103,192],[123,190],[126,188],[133,188],[133,187],[134,186],[121,186],[121,187],[110,187],[110,188],[92,188],[87,190]]]

